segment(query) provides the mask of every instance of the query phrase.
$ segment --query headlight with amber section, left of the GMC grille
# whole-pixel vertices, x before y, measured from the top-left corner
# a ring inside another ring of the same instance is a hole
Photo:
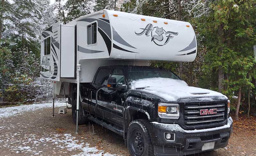
[[[178,119],[180,117],[180,107],[178,104],[159,103],[158,116],[165,119]]]

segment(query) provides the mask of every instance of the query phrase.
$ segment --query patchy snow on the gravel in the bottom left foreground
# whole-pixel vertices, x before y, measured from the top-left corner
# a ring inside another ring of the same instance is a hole
[[[27,153],[33,155],[44,155],[46,151],[38,150],[39,145],[47,147],[55,146],[53,150],[61,151],[61,153],[67,153],[67,151],[75,152],[80,151],[79,154],[73,156],[116,156],[109,153],[104,153],[104,151],[98,150],[96,147],[89,147],[90,144],[84,143],[73,137],[71,134],[46,134],[44,136],[37,136],[35,134],[25,134],[24,138],[26,140],[20,140],[21,134],[11,133],[6,135],[4,140],[0,140],[0,143],[5,143],[4,147],[9,147],[10,151],[15,153]],[[18,146],[14,146],[13,143],[23,142]],[[7,144],[6,144],[7,143]],[[11,145],[8,145],[11,144]]]

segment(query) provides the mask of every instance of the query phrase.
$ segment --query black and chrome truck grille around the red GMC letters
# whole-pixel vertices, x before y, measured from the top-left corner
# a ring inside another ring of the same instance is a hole
[[[184,105],[184,124],[189,129],[211,128],[222,126],[225,124],[226,115],[226,102],[195,102],[185,103]],[[202,109],[215,109],[215,114],[206,113],[200,115]],[[217,110],[216,110],[217,109]]]

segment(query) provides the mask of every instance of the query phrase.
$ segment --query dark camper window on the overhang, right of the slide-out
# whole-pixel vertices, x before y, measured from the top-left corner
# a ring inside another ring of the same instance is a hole
[[[97,23],[91,23],[87,26],[87,45],[97,42]]]

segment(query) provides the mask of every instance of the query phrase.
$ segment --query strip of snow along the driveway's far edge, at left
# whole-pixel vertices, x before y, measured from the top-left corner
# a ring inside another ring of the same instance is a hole
[[[54,103],[54,107],[63,107],[63,106],[66,106],[66,103],[59,103],[59,102]],[[40,104],[0,108],[0,119],[4,117],[23,114],[28,111],[35,111],[37,109],[51,108],[51,107],[52,107],[52,103],[40,103]]]

